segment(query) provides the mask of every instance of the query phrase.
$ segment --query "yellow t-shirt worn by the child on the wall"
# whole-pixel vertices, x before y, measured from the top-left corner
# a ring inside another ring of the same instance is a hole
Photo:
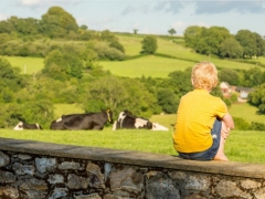
[[[212,146],[211,129],[216,118],[227,114],[220,97],[194,90],[181,97],[177,111],[173,146],[180,153],[198,153]]]

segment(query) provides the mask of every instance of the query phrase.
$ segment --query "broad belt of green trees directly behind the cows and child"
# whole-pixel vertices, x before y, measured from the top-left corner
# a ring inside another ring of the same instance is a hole
[[[64,67],[63,54],[55,51],[54,56],[45,57],[44,69],[32,75],[21,74],[6,59],[0,59],[0,127],[25,121],[38,122],[47,128],[55,119],[54,104],[57,103],[80,104],[84,112],[110,107],[116,116],[124,109],[147,118],[162,112],[173,114],[180,97],[192,90],[191,67],[171,72],[168,78],[129,78],[115,76],[98,65],[85,70],[84,75],[78,77],[70,75],[71,69]],[[256,87],[250,95],[250,102],[264,107],[258,87],[264,88],[265,72],[257,67],[247,71],[221,69],[219,76],[220,82]],[[219,87],[212,94],[223,97]],[[227,100],[225,103],[231,105]]]

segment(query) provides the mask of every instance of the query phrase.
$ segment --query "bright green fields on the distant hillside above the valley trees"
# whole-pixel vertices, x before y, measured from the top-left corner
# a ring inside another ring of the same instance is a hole
[[[141,41],[144,39],[142,35],[117,34],[116,36],[124,45],[127,56],[135,56],[140,54]],[[197,62],[200,61],[211,61],[216,65],[218,69],[231,67],[235,70],[248,70],[251,67],[257,66],[255,64],[241,63],[231,60],[221,60],[214,56],[201,55],[194,53],[191,49],[172,42],[172,40],[169,39],[158,38],[157,41],[157,53],[162,56],[149,55],[127,61],[100,61],[99,65],[102,65],[103,69],[110,71],[115,75],[128,77],[167,77],[170,72],[192,67]],[[44,66],[42,57],[2,57],[7,59],[13,66],[18,66],[19,69],[21,69],[22,74],[38,73]],[[259,57],[258,61],[265,63],[264,57]],[[253,62],[255,62],[255,60],[253,60]]]

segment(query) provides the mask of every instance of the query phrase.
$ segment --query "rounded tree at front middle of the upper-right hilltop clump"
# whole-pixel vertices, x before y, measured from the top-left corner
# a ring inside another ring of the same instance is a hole
[[[222,57],[237,59],[243,56],[243,48],[234,38],[225,39],[220,44],[220,55]]]

